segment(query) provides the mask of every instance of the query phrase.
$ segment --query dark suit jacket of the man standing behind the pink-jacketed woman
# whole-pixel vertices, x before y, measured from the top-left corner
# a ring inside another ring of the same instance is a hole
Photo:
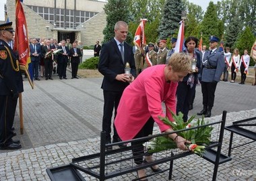
[[[129,62],[131,74],[136,76],[135,61],[133,57],[133,48],[124,42],[125,63]],[[122,60],[121,52],[115,39],[102,45],[98,70],[104,75],[101,88],[104,91],[123,91],[129,82],[116,80],[117,74],[125,73],[125,63]]]

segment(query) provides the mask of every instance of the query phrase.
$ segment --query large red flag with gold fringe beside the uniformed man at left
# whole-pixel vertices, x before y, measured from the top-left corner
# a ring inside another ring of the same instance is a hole
[[[33,84],[33,72],[32,72],[32,63],[30,60],[30,48],[28,42],[28,28],[26,23],[25,13],[22,7],[22,0],[16,1],[16,29],[15,29],[15,41],[14,41],[14,50],[18,52],[20,69],[23,70],[27,76],[28,81],[32,88]]]

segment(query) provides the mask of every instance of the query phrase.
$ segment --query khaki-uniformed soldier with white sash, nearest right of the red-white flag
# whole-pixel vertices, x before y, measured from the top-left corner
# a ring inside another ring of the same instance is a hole
[[[148,44],[148,52],[146,53],[145,61],[143,64],[143,70],[150,66],[156,65],[157,57],[158,57],[158,54],[154,51],[154,44],[149,43]]]

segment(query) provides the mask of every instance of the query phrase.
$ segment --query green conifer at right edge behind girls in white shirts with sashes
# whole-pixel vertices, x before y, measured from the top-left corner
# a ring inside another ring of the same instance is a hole
[[[247,26],[243,32],[238,36],[236,43],[234,44],[234,48],[238,48],[241,55],[245,49],[248,50],[248,54],[251,54],[251,47],[255,41],[255,37],[251,32],[251,28]],[[255,62],[251,58],[250,65],[253,66]]]

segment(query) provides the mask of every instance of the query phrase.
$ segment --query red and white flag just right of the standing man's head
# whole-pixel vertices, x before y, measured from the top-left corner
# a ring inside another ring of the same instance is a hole
[[[142,44],[146,44],[146,36],[145,36],[145,24],[147,19],[141,19],[139,26],[135,32],[133,43],[135,46],[142,48]]]

